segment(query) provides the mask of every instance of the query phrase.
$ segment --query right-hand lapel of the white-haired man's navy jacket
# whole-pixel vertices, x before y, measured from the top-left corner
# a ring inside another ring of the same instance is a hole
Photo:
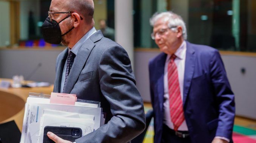
[[[184,74],[183,105],[185,105],[185,102],[187,100],[188,91],[190,89],[191,80],[194,74],[195,59],[196,59],[196,55],[194,53],[195,51],[192,45],[189,42],[187,42],[185,74]]]

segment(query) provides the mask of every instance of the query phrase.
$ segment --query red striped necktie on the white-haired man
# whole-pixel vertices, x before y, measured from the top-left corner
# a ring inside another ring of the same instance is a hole
[[[176,56],[171,55],[168,64],[168,89],[169,89],[169,102],[171,122],[173,122],[174,130],[177,131],[179,126],[185,120],[182,100],[180,95],[179,77],[174,59]]]

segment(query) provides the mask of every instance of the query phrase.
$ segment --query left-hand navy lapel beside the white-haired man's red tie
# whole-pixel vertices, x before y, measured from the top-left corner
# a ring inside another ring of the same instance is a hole
[[[163,110],[163,94],[164,94],[164,84],[163,84],[163,75],[164,75],[164,68],[165,68],[165,60],[167,54],[161,53],[162,55],[157,60],[157,93],[159,99],[160,110]]]

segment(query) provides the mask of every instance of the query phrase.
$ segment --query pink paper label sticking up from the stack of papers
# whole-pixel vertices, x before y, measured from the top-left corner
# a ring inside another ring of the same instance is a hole
[[[50,103],[51,104],[63,104],[63,105],[75,105],[76,102],[75,94],[66,93],[51,93]]]

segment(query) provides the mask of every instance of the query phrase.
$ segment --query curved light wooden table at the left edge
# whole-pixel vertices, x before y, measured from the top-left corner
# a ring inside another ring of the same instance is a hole
[[[1,78],[0,81],[10,81]],[[21,87],[21,88],[0,88],[0,123],[14,120],[22,131],[24,107],[29,92],[51,94],[53,85],[49,87]]]

